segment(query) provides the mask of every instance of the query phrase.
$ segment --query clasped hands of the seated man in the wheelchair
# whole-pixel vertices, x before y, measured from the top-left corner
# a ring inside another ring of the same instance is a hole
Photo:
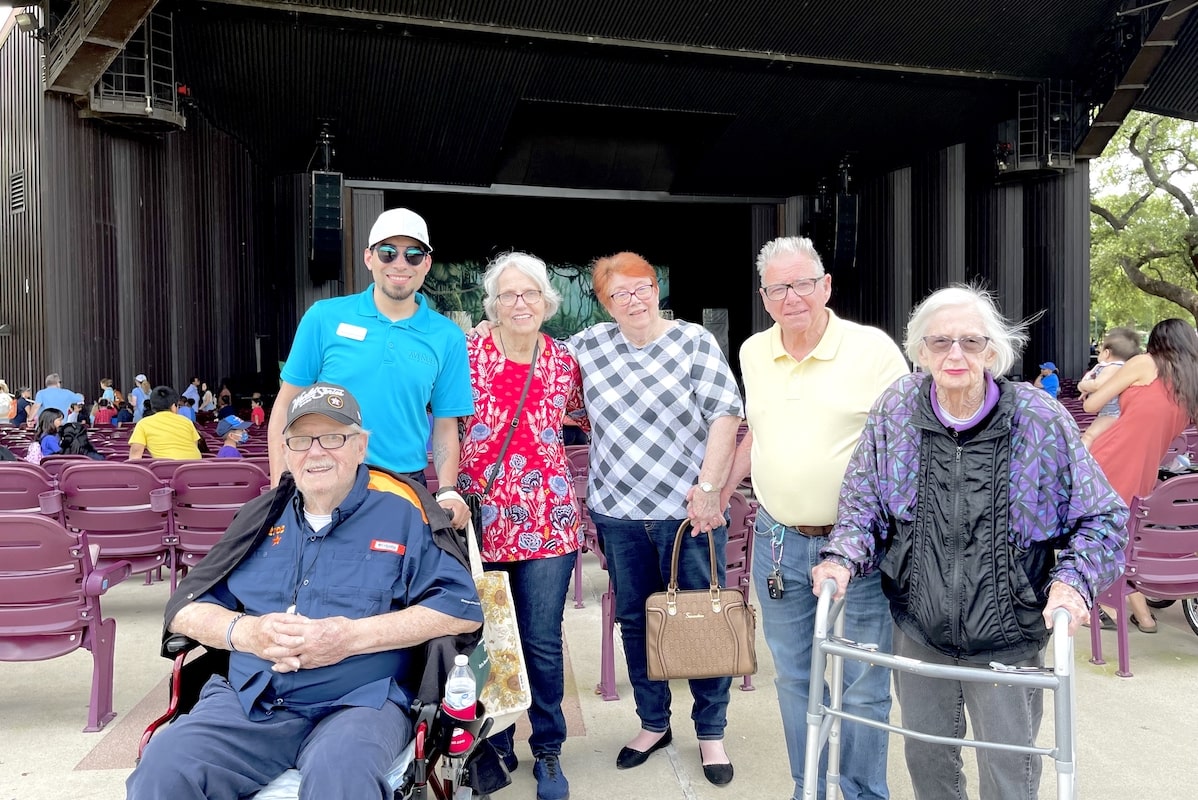
[[[311,619],[303,614],[270,613],[247,617],[250,623],[238,649],[273,661],[273,672],[297,672],[337,663],[350,655],[350,626],[346,617]],[[248,644],[248,647],[244,647]]]

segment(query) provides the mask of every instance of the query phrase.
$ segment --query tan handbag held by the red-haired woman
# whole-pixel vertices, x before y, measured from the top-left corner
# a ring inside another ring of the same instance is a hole
[[[678,553],[690,520],[678,526],[670,584],[645,601],[649,678],[731,678],[757,672],[757,612],[737,589],[716,582],[715,544],[707,537],[712,584],[678,590]]]

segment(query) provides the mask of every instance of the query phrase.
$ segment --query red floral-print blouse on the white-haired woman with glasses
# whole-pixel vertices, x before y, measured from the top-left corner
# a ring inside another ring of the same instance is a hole
[[[467,343],[474,416],[465,422],[458,491],[482,493],[496,473],[512,417],[533,365],[508,360],[491,337]],[[483,504],[484,562],[565,556],[579,549],[577,503],[562,444],[569,416],[589,431],[582,375],[564,345],[541,335],[532,384],[506,463]]]

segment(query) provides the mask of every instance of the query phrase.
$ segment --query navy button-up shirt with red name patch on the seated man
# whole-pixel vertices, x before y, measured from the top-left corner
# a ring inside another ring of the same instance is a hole
[[[319,533],[303,516],[300,496],[270,535],[196,602],[261,616],[295,604],[304,617],[362,619],[410,606],[482,622],[470,571],[434,544],[415,496],[376,491],[358,467],[353,489]],[[252,653],[234,651],[229,683],[252,720],[274,707],[300,713],[340,705],[401,709],[415,699],[395,675],[409,674],[407,649],[356,655],[316,669],[274,673]]]

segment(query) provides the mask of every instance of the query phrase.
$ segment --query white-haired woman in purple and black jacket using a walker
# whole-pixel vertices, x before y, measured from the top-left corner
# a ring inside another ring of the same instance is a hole
[[[1027,344],[1022,325],[969,286],[942,289],[912,313],[907,354],[921,372],[870,412],[848,463],[836,526],[812,570],[842,594],[881,570],[895,654],[930,663],[1041,666],[1052,614],[1070,634],[1123,571],[1127,508],[1043,392],[1003,375]],[[902,725],[1030,745],[1037,689],[896,673]],[[908,739],[915,796],[963,796],[961,749]],[[982,800],[1034,800],[1041,759],[978,751]]]

